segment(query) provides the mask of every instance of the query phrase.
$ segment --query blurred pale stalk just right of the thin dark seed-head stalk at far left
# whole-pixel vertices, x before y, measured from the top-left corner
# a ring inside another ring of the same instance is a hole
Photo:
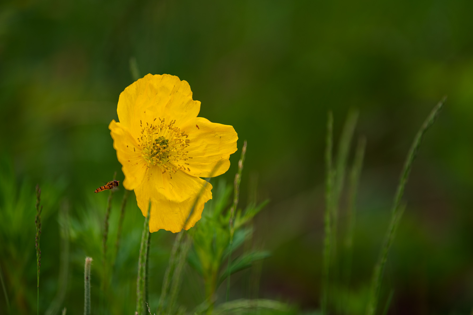
[[[58,291],[45,315],[56,315],[61,310],[67,290],[69,274],[69,204],[67,200],[61,202],[59,209],[59,223],[61,230],[61,260],[59,263]]]

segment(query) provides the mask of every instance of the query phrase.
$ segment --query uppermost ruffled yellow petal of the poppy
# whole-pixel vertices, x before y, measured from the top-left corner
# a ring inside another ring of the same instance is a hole
[[[151,75],[126,87],[118,99],[117,114],[134,138],[139,137],[140,124],[158,124],[175,120],[176,126],[197,117],[201,102],[192,99],[189,83],[169,74]],[[156,119],[156,120],[155,120]]]

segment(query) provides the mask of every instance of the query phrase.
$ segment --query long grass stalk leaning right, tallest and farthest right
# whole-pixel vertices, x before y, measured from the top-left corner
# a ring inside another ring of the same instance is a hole
[[[371,282],[368,306],[367,306],[367,311],[366,311],[367,315],[374,315],[376,313],[378,299],[379,299],[379,290],[381,288],[381,281],[383,278],[383,272],[385,269],[387,255],[389,253],[389,248],[391,247],[391,244],[393,243],[395,231],[399,225],[401,216],[403,214],[403,208],[401,207],[401,200],[403,197],[405,185],[409,178],[409,174],[411,173],[412,162],[414,161],[414,159],[417,157],[417,154],[419,153],[420,144],[425,135],[425,132],[437,119],[438,114],[440,110],[442,109],[445,101],[446,101],[446,97],[444,97],[440,102],[438,102],[438,104],[432,109],[429,116],[420,127],[420,130],[417,132],[414,138],[414,141],[412,142],[411,149],[409,149],[406,160],[404,162],[403,171],[401,172],[401,178],[399,180],[396,194],[394,196],[393,208],[391,210],[391,220],[389,223],[389,227],[386,231],[385,241],[381,248],[378,262],[373,271],[373,278]]]

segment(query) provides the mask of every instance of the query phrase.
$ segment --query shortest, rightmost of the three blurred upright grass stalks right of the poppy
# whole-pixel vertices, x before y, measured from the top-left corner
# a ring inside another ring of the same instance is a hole
[[[346,287],[350,287],[351,278],[351,261],[353,257],[353,233],[356,223],[356,199],[358,193],[359,177],[363,167],[363,158],[365,156],[366,138],[362,137],[358,140],[355,159],[350,170],[349,188],[348,188],[348,206],[347,206],[347,228],[345,235],[345,251],[346,259],[344,261],[344,276]],[[348,311],[348,309],[347,309]]]

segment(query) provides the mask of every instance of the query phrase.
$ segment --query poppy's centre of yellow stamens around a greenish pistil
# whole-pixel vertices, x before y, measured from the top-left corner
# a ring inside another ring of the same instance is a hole
[[[148,161],[148,167],[157,165],[161,167],[163,173],[166,171],[175,173],[179,168],[186,170],[185,165],[189,164],[185,161],[189,157],[187,157],[188,151],[184,150],[190,145],[188,135],[174,126],[175,120],[166,124],[164,119],[159,118],[159,122],[156,125],[146,122],[146,126],[143,127],[140,121],[141,137],[138,141],[142,148],[142,156]],[[190,168],[187,167],[187,170],[190,171]]]

